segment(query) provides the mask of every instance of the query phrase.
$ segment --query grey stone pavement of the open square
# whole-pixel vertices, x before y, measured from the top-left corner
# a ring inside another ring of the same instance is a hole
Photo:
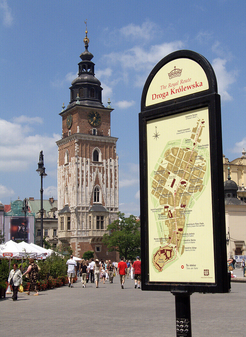
[[[193,337],[244,337],[246,284],[232,283],[230,294],[192,294]],[[18,293],[0,300],[0,336],[153,336],[175,337],[175,298],[169,292],[143,292],[119,277],[45,290],[39,296]]]

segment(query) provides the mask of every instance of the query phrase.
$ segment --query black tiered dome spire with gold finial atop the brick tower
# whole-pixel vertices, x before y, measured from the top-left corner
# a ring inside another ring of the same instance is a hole
[[[93,55],[88,51],[89,38],[87,37],[87,23],[86,24],[86,37],[84,38],[85,51],[80,55],[81,62],[79,65],[78,77],[74,79],[69,88],[71,91],[71,100],[67,108],[75,105],[77,97],[81,105],[103,107],[102,105],[102,88],[101,82],[95,77],[94,65],[91,61]]]

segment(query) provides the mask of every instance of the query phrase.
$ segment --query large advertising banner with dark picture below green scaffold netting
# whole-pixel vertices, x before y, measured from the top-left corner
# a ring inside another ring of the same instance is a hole
[[[25,240],[24,216],[5,216],[4,236],[5,241]],[[27,243],[34,242],[34,217],[26,217]]]

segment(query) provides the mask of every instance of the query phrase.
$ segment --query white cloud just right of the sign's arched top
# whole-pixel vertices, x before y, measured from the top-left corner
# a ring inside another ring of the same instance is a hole
[[[218,93],[221,95],[221,100],[231,101],[233,97],[228,93],[230,86],[236,81],[236,72],[227,71],[225,68],[227,60],[217,58],[212,62],[212,66],[217,78]]]

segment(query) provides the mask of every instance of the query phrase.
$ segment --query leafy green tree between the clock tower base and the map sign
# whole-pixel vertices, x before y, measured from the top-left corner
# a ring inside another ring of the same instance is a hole
[[[110,234],[104,234],[102,241],[109,251],[118,251],[120,256],[133,259],[140,255],[140,221],[134,215],[125,217],[119,212],[119,219],[107,226]]]

